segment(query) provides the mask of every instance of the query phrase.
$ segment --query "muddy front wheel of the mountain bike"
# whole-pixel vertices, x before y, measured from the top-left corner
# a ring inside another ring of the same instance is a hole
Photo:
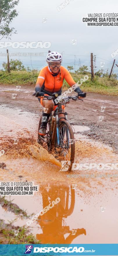
[[[69,171],[74,163],[75,143],[74,134],[68,121],[62,121],[59,125],[60,146],[58,146],[57,132],[54,139],[54,150],[59,161],[70,161]]]

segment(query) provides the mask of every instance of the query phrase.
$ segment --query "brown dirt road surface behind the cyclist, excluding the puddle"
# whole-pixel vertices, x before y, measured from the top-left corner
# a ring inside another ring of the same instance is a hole
[[[17,91],[15,86],[0,85],[0,104],[40,115],[42,106],[32,96],[33,92],[34,86],[21,86],[20,91]],[[15,99],[12,99],[13,93],[17,94]],[[66,111],[71,124],[87,125],[91,128],[83,134],[99,139],[118,151],[118,97],[87,93],[84,102],[72,101],[67,104]]]

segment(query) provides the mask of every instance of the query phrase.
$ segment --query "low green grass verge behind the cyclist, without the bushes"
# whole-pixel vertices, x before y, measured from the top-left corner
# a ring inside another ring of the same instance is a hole
[[[34,85],[37,81],[39,72],[34,70],[27,71],[11,71],[10,74],[6,71],[0,71],[0,83],[10,85]],[[75,82],[83,78],[85,74],[71,73]],[[91,81],[91,74],[88,72],[89,79],[81,85],[81,89],[86,92],[101,93],[106,95],[118,95],[118,80],[108,79],[108,77],[95,76],[94,81]],[[69,85],[64,80],[63,90],[69,88]]]

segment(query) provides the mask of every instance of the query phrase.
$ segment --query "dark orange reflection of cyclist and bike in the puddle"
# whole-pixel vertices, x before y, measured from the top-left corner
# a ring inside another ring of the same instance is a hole
[[[38,217],[37,223],[40,225],[39,230],[42,233],[36,234],[36,238],[41,240],[41,243],[72,243],[79,235],[86,235],[84,228],[76,228],[75,225],[70,230],[66,223],[67,217],[71,216],[75,206],[75,190],[72,189],[72,186],[49,185],[47,188],[40,189],[40,193],[42,194],[43,209],[52,206],[52,202],[56,198],[60,198],[58,204]]]

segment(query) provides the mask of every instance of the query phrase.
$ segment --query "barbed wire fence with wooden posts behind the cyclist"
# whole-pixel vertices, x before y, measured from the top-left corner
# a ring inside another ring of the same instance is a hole
[[[46,55],[48,52],[15,52],[9,51],[2,51],[0,53],[0,66],[2,67],[3,62],[8,63],[7,56],[9,59],[14,60],[17,59],[22,61],[24,67],[29,67],[31,70],[38,70],[40,71],[44,66],[47,66],[46,62]],[[69,56],[69,57],[68,57]],[[71,57],[72,56],[72,57]],[[24,58],[27,57],[27,58]],[[34,59],[35,58],[35,59]],[[113,63],[118,63],[114,61],[109,61],[107,59],[101,58],[99,56],[93,55],[78,55],[78,54],[66,54],[64,51],[62,52],[62,65],[67,68],[67,66],[71,65],[74,68],[74,73],[79,69],[79,67],[85,65],[88,68],[88,72],[92,74],[92,78],[96,73],[96,70],[108,70],[109,74],[111,72],[116,72],[118,74],[118,65],[115,66]],[[92,64],[93,63],[93,64]],[[108,64],[108,65],[107,65]]]

